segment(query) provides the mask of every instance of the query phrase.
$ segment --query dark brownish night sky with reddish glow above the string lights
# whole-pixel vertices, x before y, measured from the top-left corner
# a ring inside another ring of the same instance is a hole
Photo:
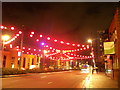
[[[108,29],[115,2],[4,2],[3,25],[35,31],[59,40],[85,43],[97,31]]]

